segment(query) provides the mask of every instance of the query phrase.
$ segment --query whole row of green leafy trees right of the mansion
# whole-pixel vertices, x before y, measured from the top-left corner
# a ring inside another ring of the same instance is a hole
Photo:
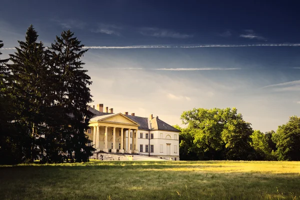
[[[181,119],[181,160],[300,160],[300,117],[265,133],[253,131],[234,107],[194,108]]]

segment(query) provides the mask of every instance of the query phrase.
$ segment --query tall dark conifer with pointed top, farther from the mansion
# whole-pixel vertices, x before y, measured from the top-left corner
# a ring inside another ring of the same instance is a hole
[[[15,99],[17,117],[25,132],[21,135],[25,161],[32,162],[42,154],[38,144],[46,129],[44,113],[47,107],[48,57],[33,26],[26,31],[25,41],[18,41],[14,54],[9,54],[12,64],[7,64],[9,92]]]

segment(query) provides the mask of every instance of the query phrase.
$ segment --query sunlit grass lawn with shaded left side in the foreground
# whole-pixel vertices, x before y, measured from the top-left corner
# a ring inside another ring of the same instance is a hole
[[[300,162],[0,166],[0,199],[300,199]]]

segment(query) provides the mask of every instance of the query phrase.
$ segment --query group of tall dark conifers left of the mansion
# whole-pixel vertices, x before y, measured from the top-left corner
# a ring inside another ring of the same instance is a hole
[[[47,48],[37,38],[30,25],[15,52],[0,59],[0,164],[88,161],[91,81],[80,60],[87,49],[70,30]]]

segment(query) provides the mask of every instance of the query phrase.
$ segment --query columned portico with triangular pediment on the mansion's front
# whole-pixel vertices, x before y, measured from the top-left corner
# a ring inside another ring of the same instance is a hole
[[[90,119],[93,147],[105,152],[137,153],[139,124],[121,113],[95,116]]]

